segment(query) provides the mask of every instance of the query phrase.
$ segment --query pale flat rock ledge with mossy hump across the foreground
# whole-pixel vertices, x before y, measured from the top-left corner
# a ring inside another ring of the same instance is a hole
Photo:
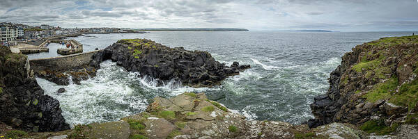
[[[0,135],[10,136],[11,127],[2,126]],[[15,135],[15,134],[13,134]],[[18,138],[415,138],[417,126],[402,125],[395,133],[376,136],[358,130],[353,124],[332,123],[309,129],[306,124],[245,120],[238,113],[203,93],[185,92],[165,99],[155,97],[146,112],[120,121],[76,125],[59,132],[21,133]]]

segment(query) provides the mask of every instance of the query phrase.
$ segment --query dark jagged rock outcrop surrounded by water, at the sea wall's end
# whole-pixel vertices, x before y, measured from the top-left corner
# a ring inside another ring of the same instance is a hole
[[[177,80],[194,87],[220,85],[227,76],[238,75],[249,65],[234,62],[231,67],[217,62],[207,51],[170,48],[146,39],[123,39],[100,51],[91,65],[116,61],[127,71],[139,72],[162,81]]]

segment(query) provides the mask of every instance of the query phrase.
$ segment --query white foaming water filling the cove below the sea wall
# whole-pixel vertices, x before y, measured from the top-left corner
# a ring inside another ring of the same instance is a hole
[[[133,115],[146,109],[147,101],[141,95],[135,95],[134,89],[116,64],[105,61],[102,69],[92,79],[81,81],[81,85],[56,85],[38,79],[45,94],[60,101],[65,120],[72,126],[74,124],[87,124],[92,122],[109,122],[119,120],[121,117]],[[118,72],[115,72],[118,71]],[[115,78],[121,76],[121,78]],[[56,90],[65,88],[66,92],[57,94]]]

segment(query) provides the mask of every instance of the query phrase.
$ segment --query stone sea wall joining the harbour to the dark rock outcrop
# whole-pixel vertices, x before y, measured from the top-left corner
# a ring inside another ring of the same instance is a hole
[[[69,56],[60,56],[54,58],[40,58],[29,60],[33,72],[45,70],[68,70],[72,67],[88,65],[92,60],[92,56],[101,50],[91,51],[83,54],[73,54]]]

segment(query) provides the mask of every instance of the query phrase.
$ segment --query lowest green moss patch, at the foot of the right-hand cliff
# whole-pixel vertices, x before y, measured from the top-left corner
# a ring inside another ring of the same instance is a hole
[[[392,124],[392,126],[386,126],[383,120],[369,120],[364,122],[360,129],[366,133],[376,133],[376,135],[387,135],[392,133],[398,128],[398,124]]]

